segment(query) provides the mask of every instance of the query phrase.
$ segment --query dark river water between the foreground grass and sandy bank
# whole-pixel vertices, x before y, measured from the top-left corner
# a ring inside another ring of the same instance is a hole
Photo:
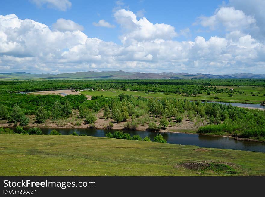
[[[49,134],[53,128],[41,128],[43,134]],[[61,134],[69,135],[73,132],[77,134],[86,134],[88,136],[105,137],[106,133],[114,132],[115,130],[106,129],[85,129],[85,128],[56,128]],[[221,149],[234,149],[234,150],[246,150],[265,152],[265,144],[253,141],[241,141],[234,140],[229,137],[210,136],[210,135],[198,135],[198,134],[185,134],[185,133],[169,133],[169,132],[151,132],[151,131],[128,131],[123,130],[130,135],[139,135],[144,138],[150,137],[153,141],[154,136],[158,133],[163,135],[167,140],[167,143],[182,144],[182,145],[195,145],[206,148],[221,148]]]

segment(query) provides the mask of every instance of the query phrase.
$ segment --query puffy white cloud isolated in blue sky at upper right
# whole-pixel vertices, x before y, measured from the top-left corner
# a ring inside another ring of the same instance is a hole
[[[248,28],[256,22],[251,15],[246,15],[242,10],[235,10],[234,7],[221,7],[210,17],[199,17],[200,23],[204,27],[216,29],[220,25],[227,31]]]

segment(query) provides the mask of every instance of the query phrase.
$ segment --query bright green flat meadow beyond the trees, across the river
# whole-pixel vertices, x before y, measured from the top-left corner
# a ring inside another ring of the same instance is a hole
[[[255,87],[253,86],[217,86],[217,89],[225,89],[225,88],[233,88],[234,90],[241,90],[244,91],[243,94],[233,93],[233,96],[229,96],[227,93],[220,93],[220,94],[210,94],[207,93],[198,94],[197,96],[182,96],[176,93],[159,93],[159,92],[150,92],[146,94],[145,92],[136,92],[136,91],[125,91],[125,90],[108,90],[108,91],[83,91],[81,94],[91,95],[91,96],[106,96],[106,97],[115,97],[119,94],[129,94],[135,97],[157,97],[157,98],[165,98],[165,97],[173,97],[173,98],[186,98],[188,100],[207,100],[207,101],[219,101],[219,102],[230,102],[230,103],[252,103],[252,104],[259,104],[264,101],[265,96],[265,88],[264,87]],[[252,96],[253,94],[258,96]],[[259,93],[259,94],[258,94]],[[218,96],[219,99],[214,99],[215,96]]]

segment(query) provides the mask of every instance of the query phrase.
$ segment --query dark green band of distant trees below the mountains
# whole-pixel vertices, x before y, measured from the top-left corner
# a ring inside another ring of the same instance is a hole
[[[128,89],[131,91],[174,92],[192,94],[214,89],[214,86],[264,86],[265,79],[157,79],[157,80],[45,80],[0,81],[0,89],[32,92],[59,89],[91,88],[93,90]],[[212,86],[210,88],[210,86]],[[221,92],[226,90],[220,90]],[[218,93],[218,92],[217,92]]]

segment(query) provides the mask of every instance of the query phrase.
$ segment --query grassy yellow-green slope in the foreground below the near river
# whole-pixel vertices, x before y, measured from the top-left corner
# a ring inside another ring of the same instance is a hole
[[[265,175],[265,153],[145,141],[1,134],[0,151],[1,176]]]

